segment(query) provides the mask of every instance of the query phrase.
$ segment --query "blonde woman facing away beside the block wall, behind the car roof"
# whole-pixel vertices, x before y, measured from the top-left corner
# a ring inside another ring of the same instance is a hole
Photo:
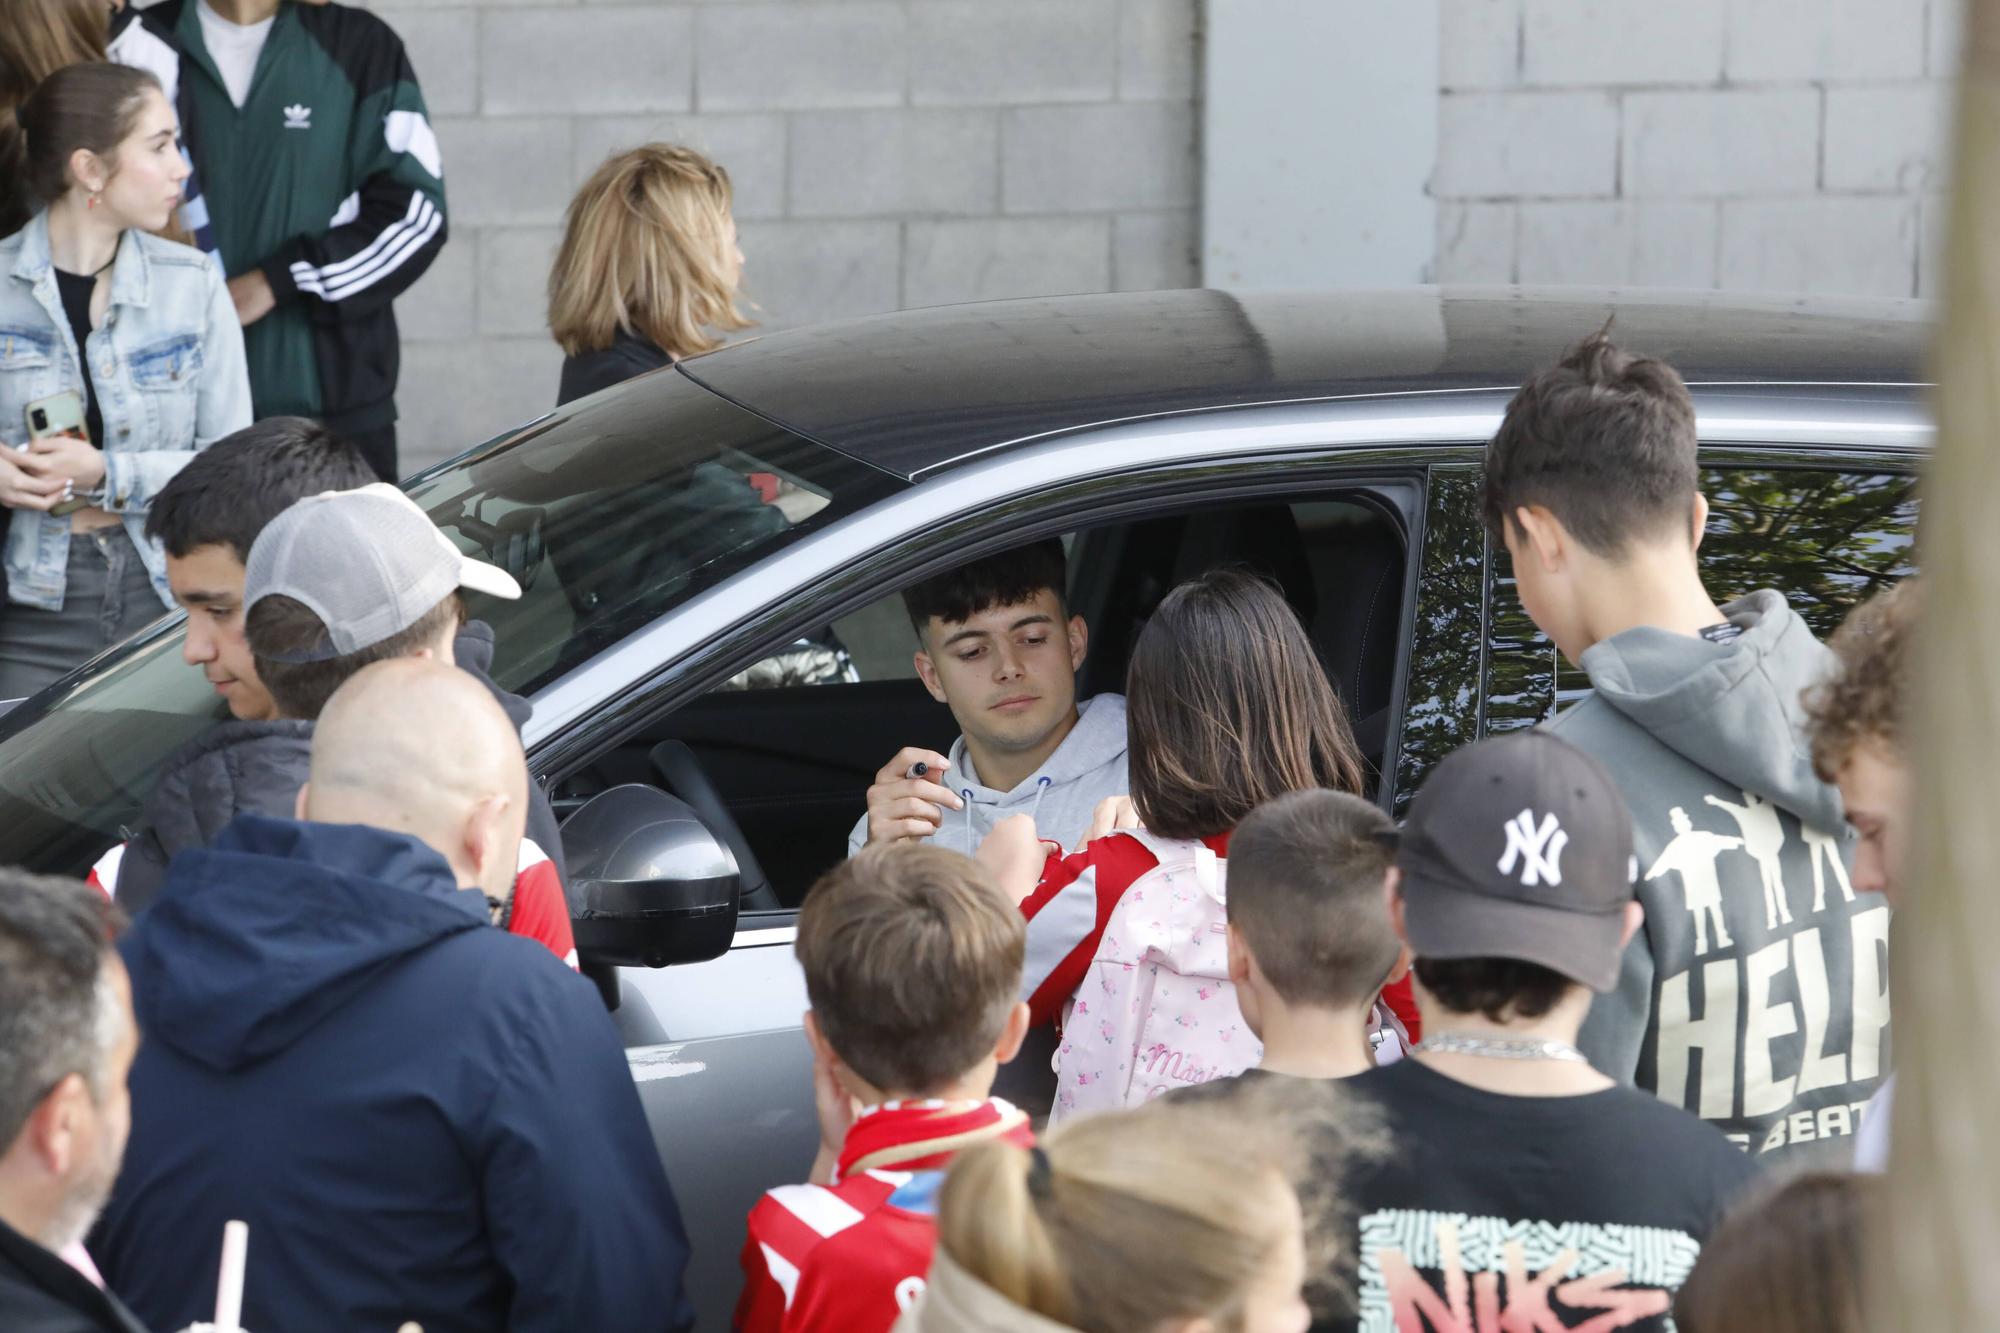
[[[750,326],[730,204],[730,174],[678,144],[620,152],[584,182],[548,274],[548,328],[568,352],[558,404]]]

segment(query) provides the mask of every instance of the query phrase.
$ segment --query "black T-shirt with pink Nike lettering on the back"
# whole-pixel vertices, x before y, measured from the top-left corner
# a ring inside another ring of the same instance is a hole
[[[1546,1303],[1566,1329],[1596,1319],[1658,1333],[1756,1177],[1712,1127],[1630,1087],[1508,1097],[1406,1059],[1346,1089],[1382,1107],[1392,1147],[1348,1181],[1360,1321],[1340,1329],[1470,1329],[1492,1301],[1494,1327],[1514,1327],[1510,1311],[1556,1327],[1532,1313]],[[1454,1299],[1466,1303],[1456,1323]]]

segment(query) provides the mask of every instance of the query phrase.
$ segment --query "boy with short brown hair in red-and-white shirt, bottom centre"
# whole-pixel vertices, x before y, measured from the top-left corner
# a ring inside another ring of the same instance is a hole
[[[808,1185],[750,1209],[744,1333],[886,1331],[924,1289],[952,1153],[1032,1143],[990,1097],[1028,1031],[1026,923],[992,875],[940,847],[868,847],[798,913],[820,1105]]]

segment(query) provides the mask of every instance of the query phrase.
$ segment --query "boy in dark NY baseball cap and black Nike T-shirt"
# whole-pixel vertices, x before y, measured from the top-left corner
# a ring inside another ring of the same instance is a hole
[[[1496,737],[1432,771],[1394,843],[1424,1039],[1348,1081],[1394,1153],[1348,1181],[1360,1319],[1334,1327],[1670,1327],[1756,1167],[1576,1049],[1642,919],[1618,787],[1548,733]]]

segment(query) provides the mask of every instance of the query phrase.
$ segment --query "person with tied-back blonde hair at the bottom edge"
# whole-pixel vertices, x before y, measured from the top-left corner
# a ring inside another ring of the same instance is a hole
[[[1242,1089],[962,1149],[896,1333],[1304,1333],[1354,1125],[1332,1089]]]

